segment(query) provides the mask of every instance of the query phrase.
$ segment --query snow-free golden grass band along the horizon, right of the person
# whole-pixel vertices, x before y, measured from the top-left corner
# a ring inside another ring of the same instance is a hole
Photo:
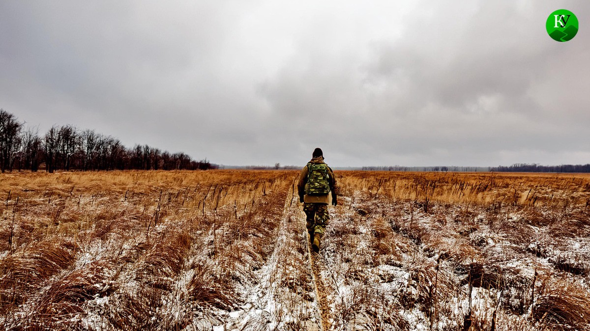
[[[589,174],[536,173],[399,173],[347,171],[340,180],[343,194],[357,192],[390,200],[427,203],[483,204],[492,208],[520,206],[586,206]]]

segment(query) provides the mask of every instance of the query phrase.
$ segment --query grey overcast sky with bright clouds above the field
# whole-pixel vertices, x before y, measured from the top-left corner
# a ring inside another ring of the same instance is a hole
[[[586,27],[588,0],[2,1],[0,108],[219,164],[586,164]]]

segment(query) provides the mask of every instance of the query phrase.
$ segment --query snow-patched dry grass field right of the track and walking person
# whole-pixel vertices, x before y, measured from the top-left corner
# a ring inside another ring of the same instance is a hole
[[[335,276],[332,296],[343,300],[332,329],[388,307],[397,317],[366,329],[588,329],[590,176],[340,174],[346,198],[323,252],[333,266],[324,279]],[[539,286],[536,273],[570,285]],[[390,299],[359,301],[358,289]]]

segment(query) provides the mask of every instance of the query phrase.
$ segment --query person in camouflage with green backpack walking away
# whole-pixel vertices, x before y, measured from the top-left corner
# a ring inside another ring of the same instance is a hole
[[[312,249],[320,251],[320,240],[326,231],[330,219],[328,204],[336,206],[336,176],[330,167],[324,163],[324,156],[320,148],[312,154],[312,160],[301,170],[297,190],[299,202],[303,203],[306,215],[307,232],[309,233]]]

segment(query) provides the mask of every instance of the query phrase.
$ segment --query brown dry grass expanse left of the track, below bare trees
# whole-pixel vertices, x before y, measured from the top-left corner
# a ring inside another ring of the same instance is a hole
[[[3,174],[4,329],[183,329],[207,310],[235,307],[235,283],[253,282],[273,251],[268,237],[293,177]]]

